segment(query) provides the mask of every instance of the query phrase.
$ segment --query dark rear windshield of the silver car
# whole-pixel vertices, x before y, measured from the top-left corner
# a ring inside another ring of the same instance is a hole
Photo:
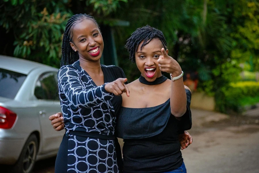
[[[26,76],[26,74],[0,68],[0,96],[14,99]]]

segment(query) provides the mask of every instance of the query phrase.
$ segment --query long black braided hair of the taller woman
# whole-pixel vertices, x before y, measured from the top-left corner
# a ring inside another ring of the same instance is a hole
[[[83,20],[92,20],[100,30],[100,27],[93,16],[88,14],[75,14],[72,16],[66,24],[66,29],[62,40],[61,67],[64,65],[70,65],[79,59],[78,52],[73,51],[69,42],[73,42],[73,28],[77,23],[82,22]]]

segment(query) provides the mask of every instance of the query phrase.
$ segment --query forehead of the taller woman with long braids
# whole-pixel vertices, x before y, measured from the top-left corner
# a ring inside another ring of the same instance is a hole
[[[73,34],[91,33],[94,29],[98,29],[98,26],[92,20],[85,19],[74,26]]]

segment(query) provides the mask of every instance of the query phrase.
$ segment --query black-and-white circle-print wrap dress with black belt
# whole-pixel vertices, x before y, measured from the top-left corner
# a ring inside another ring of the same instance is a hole
[[[58,151],[56,173],[119,172],[121,153],[114,136],[122,97],[107,92],[104,86],[117,78],[125,78],[125,74],[113,65],[101,65],[101,68],[105,82],[101,86],[96,86],[79,61],[61,67],[58,72],[66,134]]]

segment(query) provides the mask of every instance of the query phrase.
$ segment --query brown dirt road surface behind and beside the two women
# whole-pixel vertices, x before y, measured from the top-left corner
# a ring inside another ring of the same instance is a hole
[[[188,173],[259,172],[259,110],[229,116],[192,109],[193,144],[182,151]],[[38,161],[34,173],[54,173],[55,157]]]

